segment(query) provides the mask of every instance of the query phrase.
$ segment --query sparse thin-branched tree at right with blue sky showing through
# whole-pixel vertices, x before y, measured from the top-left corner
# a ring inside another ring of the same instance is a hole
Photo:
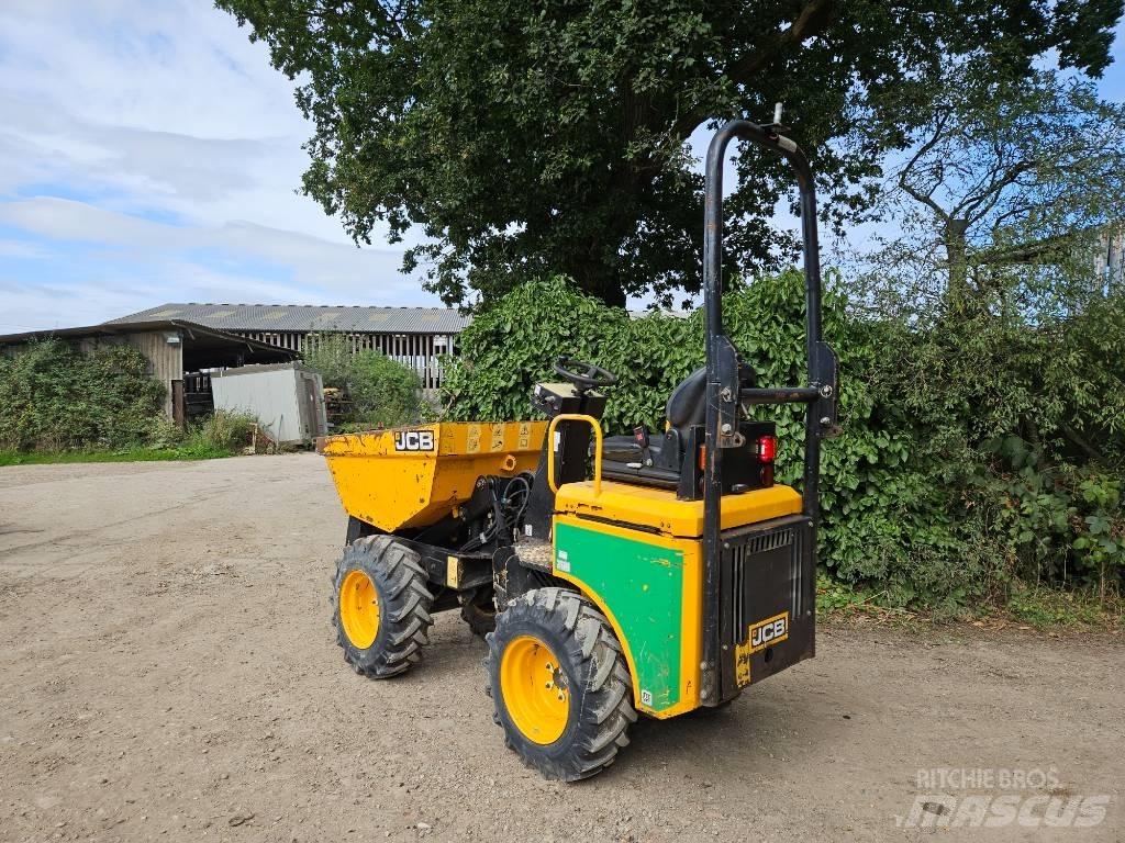
[[[879,212],[900,230],[881,238],[882,273],[953,311],[1018,282],[1052,299],[1082,291],[1069,282],[1088,292],[1094,242],[1125,215],[1125,108],[1086,80],[965,65],[929,115],[890,167]]]

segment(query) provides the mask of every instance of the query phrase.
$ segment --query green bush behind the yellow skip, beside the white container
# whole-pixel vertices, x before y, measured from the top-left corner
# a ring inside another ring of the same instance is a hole
[[[417,372],[374,348],[353,351],[344,334],[309,337],[305,365],[321,373],[325,388],[342,391],[346,426],[396,427],[418,418]]]

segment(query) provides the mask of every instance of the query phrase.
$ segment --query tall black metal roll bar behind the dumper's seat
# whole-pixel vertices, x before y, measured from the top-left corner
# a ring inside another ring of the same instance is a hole
[[[722,164],[727,146],[739,138],[789,161],[800,189],[801,238],[804,262],[806,354],[810,384],[771,389],[739,389],[738,353],[722,324]],[[777,126],[731,120],[720,128],[706,154],[704,175],[703,308],[706,317],[706,460],[703,469],[703,665],[701,694],[716,705],[732,694],[719,687],[719,596],[722,538],[722,452],[738,443],[738,408],[746,404],[806,404],[803,511],[813,531],[820,517],[818,478],[820,439],[836,427],[836,357],[821,339],[820,246],[817,196],[809,160]],[[816,533],[813,533],[813,536]],[[813,547],[816,543],[813,542]]]

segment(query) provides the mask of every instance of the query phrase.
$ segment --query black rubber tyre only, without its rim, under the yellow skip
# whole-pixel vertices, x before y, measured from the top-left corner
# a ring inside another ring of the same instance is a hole
[[[340,587],[349,571],[362,570],[371,578],[379,597],[379,632],[371,646],[360,650],[344,634],[340,623]],[[433,625],[430,609],[433,595],[421,556],[395,541],[377,535],[357,538],[344,547],[333,578],[332,624],[344,661],[371,679],[387,679],[405,673],[422,659]]]

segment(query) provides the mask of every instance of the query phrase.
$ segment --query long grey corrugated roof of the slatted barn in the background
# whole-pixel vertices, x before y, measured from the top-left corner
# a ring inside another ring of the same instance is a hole
[[[106,325],[184,319],[219,330],[349,330],[374,334],[458,334],[469,317],[444,307],[343,305],[160,305]]]

